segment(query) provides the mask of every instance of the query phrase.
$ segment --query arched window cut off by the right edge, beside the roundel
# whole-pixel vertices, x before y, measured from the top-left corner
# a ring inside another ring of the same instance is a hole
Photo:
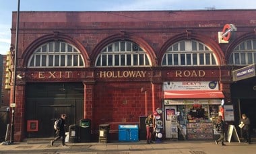
[[[245,40],[230,54],[229,65],[250,65],[256,63],[256,39]]]

